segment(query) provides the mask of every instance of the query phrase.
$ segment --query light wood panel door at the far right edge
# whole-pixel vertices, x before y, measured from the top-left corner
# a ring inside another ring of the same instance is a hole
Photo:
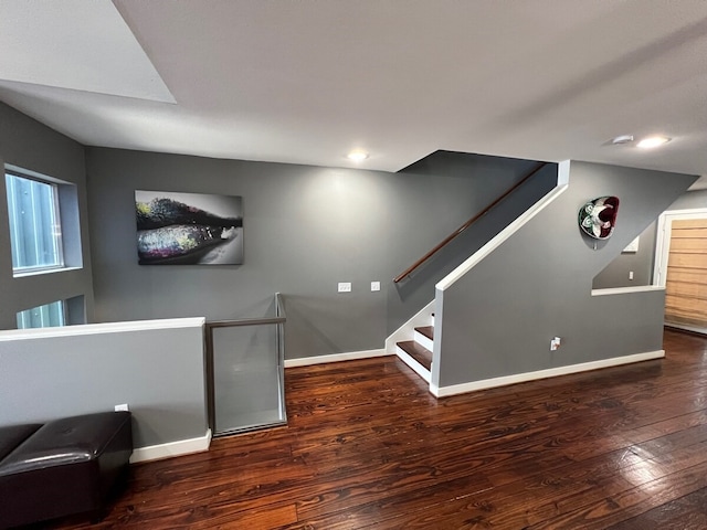
[[[707,329],[707,219],[673,221],[665,321]]]

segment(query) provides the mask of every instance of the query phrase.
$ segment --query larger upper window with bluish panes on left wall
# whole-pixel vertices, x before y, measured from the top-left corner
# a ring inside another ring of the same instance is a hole
[[[18,275],[64,267],[56,184],[11,173],[4,178],[12,271]]]

